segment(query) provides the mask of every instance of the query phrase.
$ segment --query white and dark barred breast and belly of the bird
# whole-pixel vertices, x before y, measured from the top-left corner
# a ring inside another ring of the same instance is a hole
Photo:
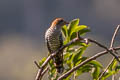
[[[45,34],[45,39],[47,42],[47,47],[49,52],[53,53],[62,46],[62,34],[61,31],[56,31],[54,29],[48,29]]]

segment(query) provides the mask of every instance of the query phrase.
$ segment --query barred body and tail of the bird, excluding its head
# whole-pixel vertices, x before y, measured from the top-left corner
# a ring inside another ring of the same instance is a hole
[[[57,51],[63,45],[62,34],[60,30],[56,30],[56,28],[49,28],[46,31],[45,39],[47,42],[47,47],[52,54],[53,52]],[[62,73],[64,70],[63,67],[63,51],[60,51],[54,58],[54,66],[57,69],[58,73]]]

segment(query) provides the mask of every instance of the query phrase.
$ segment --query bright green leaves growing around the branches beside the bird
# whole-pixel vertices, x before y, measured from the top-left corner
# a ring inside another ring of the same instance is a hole
[[[90,29],[86,25],[79,25],[79,19],[74,19],[70,22],[68,26],[64,25],[62,28],[62,33],[64,36],[64,45],[69,43],[71,40],[77,37],[76,33],[79,32],[80,36],[84,36]],[[86,49],[88,48],[89,44],[85,44],[84,42],[75,42],[71,44],[69,47],[65,48],[64,50],[64,73],[72,69],[73,67],[77,66],[78,64],[82,63],[84,60],[88,59],[88,57],[83,56]],[[40,65],[45,61],[46,58],[43,58],[40,61]],[[53,65],[53,61],[49,62],[49,79],[50,80],[57,80],[59,74],[57,74],[56,69]],[[98,80],[103,66],[100,62],[96,60],[92,60],[89,63],[83,65],[78,70],[70,74],[64,80],[75,80],[83,73],[90,73],[93,80]],[[102,76],[102,80],[107,79],[109,76],[118,73],[120,66],[117,65],[117,61],[110,65],[108,68],[107,73]],[[64,74],[63,73],[63,74]]]

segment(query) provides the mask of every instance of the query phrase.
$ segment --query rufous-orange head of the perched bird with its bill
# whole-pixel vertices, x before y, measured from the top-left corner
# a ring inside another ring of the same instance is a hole
[[[59,27],[61,28],[63,25],[69,24],[63,18],[56,18],[53,22],[51,27]]]

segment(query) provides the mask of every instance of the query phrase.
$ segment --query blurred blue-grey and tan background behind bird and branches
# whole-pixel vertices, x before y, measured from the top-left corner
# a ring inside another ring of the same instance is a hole
[[[86,37],[109,46],[120,24],[120,0],[0,0],[0,80],[34,80],[33,62],[47,56],[44,33],[56,17],[80,18],[80,24],[91,29]],[[116,46],[119,41],[117,36]],[[102,50],[92,45],[85,56]],[[105,66],[112,58],[107,56],[98,59]],[[89,77],[83,74],[80,79]]]

